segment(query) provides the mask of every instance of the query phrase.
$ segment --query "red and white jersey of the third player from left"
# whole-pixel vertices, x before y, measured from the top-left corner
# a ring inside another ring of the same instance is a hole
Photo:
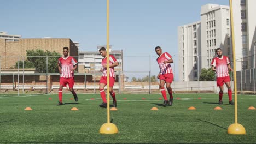
[[[160,68],[160,74],[161,74],[161,75],[172,73],[171,64],[170,64],[170,63],[164,64],[164,61],[169,61],[171,58],[172,58],[172,56],[171,56],[169,53],[164,52],[164,53],[162,53],[162,54],[156,59],[156,61],[158,61],[158,65],[159,65],[159,68]]]

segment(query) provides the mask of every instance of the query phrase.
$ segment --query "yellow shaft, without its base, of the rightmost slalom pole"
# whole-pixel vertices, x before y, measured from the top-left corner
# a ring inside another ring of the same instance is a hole
[[[232,35],[232,51],[233,51],[233,64],[234,64],[234,93],[235,93],[235,123],[237,124],[237,88],[236,88],[236,49],[235,49],[235,33],[234,33],[234,19],[233,19],[233,7],[232,0],[229,0],[230,6],[230,24],[231,24],[231,35]]]

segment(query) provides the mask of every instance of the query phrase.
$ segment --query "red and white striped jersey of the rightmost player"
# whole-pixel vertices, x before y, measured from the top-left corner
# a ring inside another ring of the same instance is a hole
[[[214,57],[211,65],[216,67],[216,77],[229,76],[228,64],[230,63],[229,58],[226,56]]]

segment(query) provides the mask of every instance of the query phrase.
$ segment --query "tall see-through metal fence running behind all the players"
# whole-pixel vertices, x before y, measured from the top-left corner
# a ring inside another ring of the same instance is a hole
[[[98,55],[97,55],[98,56]],[[95,56],[94,56],[95,57]],[[48,94],[59,89],[59,73],[54,73],[57,68],[56,56],[30,57],[37,61],[31,66],[27,62],[28,57],[1,56],[0,62],[0,94]],[[78,56],[75,56],[78,58]],[[114,90],[119,93],[159,93],[159,66],[156,63],[157,56],[124,56],[119,57],[120,68],[115,72],[116,81]],[[201,73],[202,65],[200,57],[187,56],[187,77],[189,81],[181,81],[181,57],[173,56],[172,69],[174,81],[171,85],[174,92],[218,92],[216,81],[197,81]],[[85,59],[86,61],[86,59]],[[75,73],[74,89],[78,93],[98,93],[98,82],[101,77],[101,59],[94,59],[90,67],[79,64]],[[83,72],[80,72],[83,71]],[[79,72],[79,73],[78,73]],[[255,92],[255,69],[237,71],[238,91]],[[215,78],[213,77],[215,80]],[[232,75],[231,75],[232,80]],[[233,85],[231,84],[233,87]],[[224,89],[226,91],[226,88]],[[68,87],[66,88],[68,91]]]

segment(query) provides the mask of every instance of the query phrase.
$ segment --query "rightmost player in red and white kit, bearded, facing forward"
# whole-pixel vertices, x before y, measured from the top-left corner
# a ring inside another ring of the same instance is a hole
[[[222,105],[223,85],[228,88],[229,104],[234,105],[232,101],[232,89],[230,87],[229,71],[233,71],[230,66],[229,58],[222,55],[222,49],[216,49],[217,57],[212,60],[212,70],[216,71],[217,86],[219,87],[219,105]]]

